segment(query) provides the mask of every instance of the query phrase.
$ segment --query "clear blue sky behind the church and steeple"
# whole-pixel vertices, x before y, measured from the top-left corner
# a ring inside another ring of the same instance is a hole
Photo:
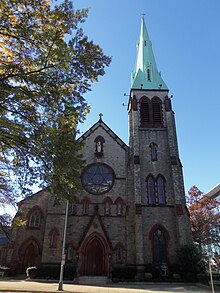
[[[127,97],[136,60],[141,13],[158,70],[173,95],[172,104],[186,192],[204,193],[220,182],[220,1],[80,0],[90,8],[85,33],[112,56],[104,77],[86,95],[90,114],[85,132],[99,119],[128,142]]]

